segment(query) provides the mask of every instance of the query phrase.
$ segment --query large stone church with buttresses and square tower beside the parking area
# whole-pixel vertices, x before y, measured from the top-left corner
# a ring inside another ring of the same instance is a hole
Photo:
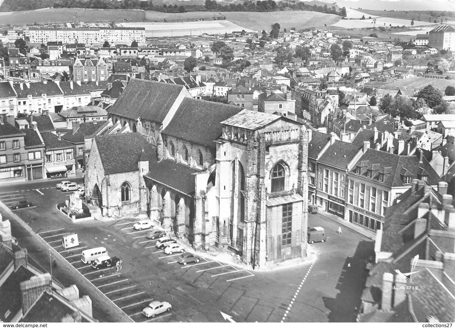
[[[93,139],[86,193],[102,215],[147,214],[196,249],[265,267],[306,256],[305,127],[132,79],[107,109],[131,133]]]

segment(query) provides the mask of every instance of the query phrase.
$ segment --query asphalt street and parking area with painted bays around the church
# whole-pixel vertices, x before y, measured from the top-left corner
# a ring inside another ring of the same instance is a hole
[[[69,180],[82,183],[81,179]],[[55,188],[56,182],[2,186],[0,202],[8,205],[22,198],[32,202],[35,206],[14,210],[14,214],[59,252],[61,260],[71,264],[71,270],[81,272],[133,321],[224,322],[220,311],[236,322],[355,321],[354,307],[359,304],[366,277],[363,263],[374,244],[347,228],[337,234],[338,224],[320,214],[310,214],[309,226],[324,227],[329,239],[308,245],[313,262],[273,271],[244,270],[204,257],[199,263],[182,265],[177,263],[178,255],[158,250],[155,241],[145,237],[147,231],[132,229],[137,219],[71,223],[56,209],[57,203],[69,199],[69,193]],[[4,219],[10,219],[12,233],[20,244],[30,243],[30,236],[21,231],[14,215],[3,209],[0,212]],[[61,236],[67,232],[78,234],[79,246],[61,247]],[[96,271],[80,261],[81,251],[98,246],[120,257],[123,269]],[[48,270],[46,252],[33,248],[28,251]],[[67,273],[59,267],[55,274],[66,285],[75,283]],[[145,318],[142,308],[152,299],[170,302],[172,311]],[[102,304],[94,303],[93,308],[100,321],[113,321],[103,312]]]

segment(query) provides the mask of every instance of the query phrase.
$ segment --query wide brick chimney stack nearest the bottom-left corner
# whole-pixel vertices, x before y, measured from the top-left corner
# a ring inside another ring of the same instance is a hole
[[[47,272],[21,282],[20,299],[22,301],[22,313],[27,313],[43,292],[52,293],[51,275]]]

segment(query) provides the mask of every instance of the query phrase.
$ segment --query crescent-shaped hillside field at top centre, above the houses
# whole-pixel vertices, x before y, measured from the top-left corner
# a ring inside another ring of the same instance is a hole
[[[323,14],[316,11],[273,11],[273,12],[252,12],[252,11],[222,11],[222,15],[234,24],[246,27],[250,30],[270,30],[270,25],[279,23],[281,30],[291,27],[297,30],[309,27],[321,27],[324,24],[331,25],[341,19],[341,16]]]

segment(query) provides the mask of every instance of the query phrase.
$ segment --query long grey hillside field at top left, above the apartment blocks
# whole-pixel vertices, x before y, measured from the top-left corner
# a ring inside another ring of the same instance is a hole
[[[76,16],[76,17],[74,17]],[[83,22],[120,22],[143,21],[145,13],[143,10],[103,10],[103,9],[81,9],[81,8],[46,8],[29,11],[15,11],[9,15],[0,16],[0,24],[29,24],[33,25],[47,23],[66,23],[71,21]],[[73,18],[74,17],[74,18]]]

